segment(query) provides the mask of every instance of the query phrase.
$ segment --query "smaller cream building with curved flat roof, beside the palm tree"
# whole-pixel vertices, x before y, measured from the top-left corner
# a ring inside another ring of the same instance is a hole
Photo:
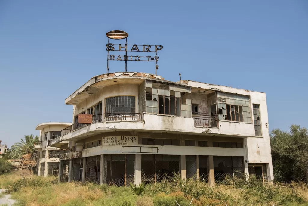
[[[61,130],[71,125],[72,123],[66,122],[46,122],[36,126],[35,130],[40,131],[40,139],[34,146],[34,149],[38,150],[39,176],[59,175],[59,155],[63,150],[48,145],[51,140],[61,136]]]

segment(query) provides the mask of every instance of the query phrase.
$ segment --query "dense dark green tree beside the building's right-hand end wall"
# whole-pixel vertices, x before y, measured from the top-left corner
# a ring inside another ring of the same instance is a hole
[[[292,125],[290,132],[274,129],[270,140],[274,178],[283,182],[308,183],[307,128]]]

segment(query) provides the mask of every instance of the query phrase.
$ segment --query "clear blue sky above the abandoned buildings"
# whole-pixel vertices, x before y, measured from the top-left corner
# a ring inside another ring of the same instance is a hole
[[[308,1],[0,0],[0,139],[71,122],[64,100],[106,73],[107,31],[160,44],[158,74],[266,93],[270,130],[308,127]],[[128,62],[128,71],[155,72]],[[111,65],[112,66],[112,65]],[[123,65],[111,71],[124,71]]]

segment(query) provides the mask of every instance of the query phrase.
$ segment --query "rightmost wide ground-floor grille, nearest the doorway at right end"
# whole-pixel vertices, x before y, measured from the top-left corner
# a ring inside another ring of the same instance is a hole
[[[243,157],[214,156],[213,160],[216,183],[222,183],[234,177],[243,177]]]

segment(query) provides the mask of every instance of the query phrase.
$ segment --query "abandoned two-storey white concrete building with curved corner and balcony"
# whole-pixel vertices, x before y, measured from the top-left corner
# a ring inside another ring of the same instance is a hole
[[[176,173],[210,185],[243,174],[273,180],[265,93],[118,72],[91,78],[65,104],[72,125],[37,126],[43,151],[59,150],[59,181],[122,186]]]

